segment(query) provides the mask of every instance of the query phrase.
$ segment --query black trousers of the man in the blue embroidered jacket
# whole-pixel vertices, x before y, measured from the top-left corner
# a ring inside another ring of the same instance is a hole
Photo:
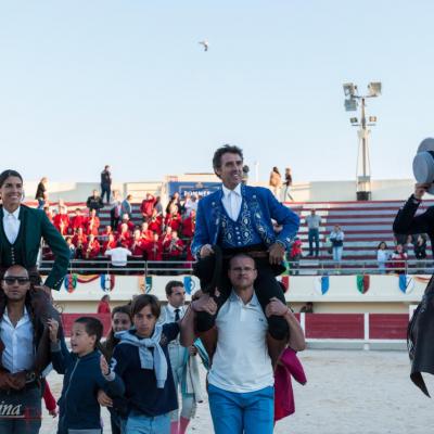
[[[201,259],[206,260],[206,258]],[[270,298],[277,297],[282,303],[286,304],[284,298],[283,290],[280,286],[279,282],[276,279],[276,270],[270,265],[268,258],[255,259],[256,268],[257,268],[257,278],[255,280],[255,293],[265,311],[266,306],[270,302]],[[229,295],[232,291],[232,284],[228,277],[229,269],[229,259],[224,259],[221,267],[221,281],[218,288],[220,292],[220,296],[216,297],[213,295],[213,298],[217,303],[217,314],[220,307],[228,299]],[[216,317],[206,312],[197,312],[196,314],[196,329],[199,332],[205,332],[210,330],[216,321]],[[276,315],[267,318],[268,320],[268,331],[270,335],[276,340],[284,340],[289,335],[289,327],[288,322],[284,318],[278,317]]]

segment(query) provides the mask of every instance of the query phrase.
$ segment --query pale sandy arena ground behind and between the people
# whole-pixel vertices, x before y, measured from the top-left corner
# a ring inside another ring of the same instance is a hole
[[[404,352],[306,350],[299,354],[308,383],[295,383],[295,414],[280,421],[280,434],[429,434],[433,403],[409,379]],[[58,397],[62,378],[49,375]],[[434,381],[433,381],[434,384]],[[103,409],[104,433],[111,433]],[[47,412],[41,433],[53,434],[58,419]],[[210,434],[207,403],[200,405],[189,433]]]

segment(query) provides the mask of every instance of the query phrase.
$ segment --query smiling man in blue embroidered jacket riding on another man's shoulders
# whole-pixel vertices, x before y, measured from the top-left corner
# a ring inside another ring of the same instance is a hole
[[[202,261],[213,263],[213,246],[219,246],[222,251],[222,268],[217,293],[209,285],[204,288],[204,279],[213,273],[213,269],[205,266],[202,267],[202,271],[196,271],[201,278],[202,290],[212,293],[219,308],[231,292],[228,278],[229,259],[243,252],[255,258],[258,270],[255,292],[263,309],[265,310],[272,297],[285,303],[276,276],[284,270],[284,254],[298,230],[299,217],[278,202],[268,189],[242,184],[243,153],[240,148],[219,148],[214,154],[213,166],[222,181],[222,187],[199,202],[191,250],[199,259],[197,270]],[[275,232],[272,220],[282,227],[279,233]],[[214,265],[213,263],[212,267]],[[214,327],[214,322],[215,316],[201,312],[197,316],[196,329],[199,332],[206,332]],[[277,316],[269,317],[268,323],[269,349],[276,361],[279,348],[283,347],[282,342],[288,339],[289,329],[286,322]],[[207,349],[209,350],[209,346]]]

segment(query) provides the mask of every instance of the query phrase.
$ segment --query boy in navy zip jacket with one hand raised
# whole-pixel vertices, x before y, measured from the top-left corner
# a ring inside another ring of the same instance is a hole
[[[75,430],[102,433],[98,391],[103,390],[110,396],[120,396],[124,393],[123,381],[110,370],[99,350],[102,323],[92,317],[78,318],[73,324],[71,335],[72,353],[68,352],[64,339],[59,342],[58,329],[58,321],[49,320],[53,368],[65,375],[59,399],[58,434],[67,434]]]

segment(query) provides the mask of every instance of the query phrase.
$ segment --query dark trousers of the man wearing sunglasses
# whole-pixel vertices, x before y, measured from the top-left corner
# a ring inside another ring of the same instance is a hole
[[[0,433],[38,434],[41,426],[41,390],[37,385],[22,391],[0,390]]]

